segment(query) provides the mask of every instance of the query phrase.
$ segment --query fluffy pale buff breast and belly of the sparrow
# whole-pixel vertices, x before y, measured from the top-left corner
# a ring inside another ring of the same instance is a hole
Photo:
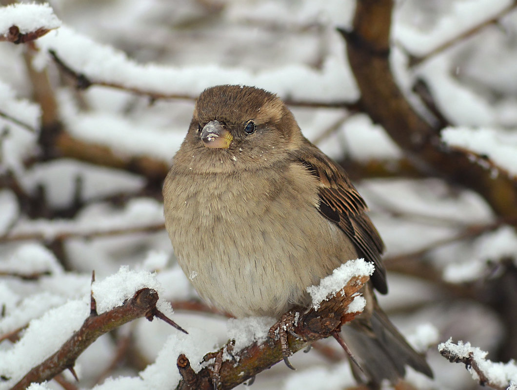
[[[291,169],[165,181],[178,263],[204,299],[237,317],[305,303],[305,288],[342,261],[344,235],[317,212],[316,183]]]

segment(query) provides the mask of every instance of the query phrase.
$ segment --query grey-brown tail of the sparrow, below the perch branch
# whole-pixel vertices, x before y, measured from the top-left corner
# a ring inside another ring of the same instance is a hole
[[[427,361],[416,352],[376,304],[369,318],[357,318],[342,329],[346,345],[361,368],[351,362],[354,377],[370,388],[383,380],[396,384],[404,378],[406,366],[433,377]]]

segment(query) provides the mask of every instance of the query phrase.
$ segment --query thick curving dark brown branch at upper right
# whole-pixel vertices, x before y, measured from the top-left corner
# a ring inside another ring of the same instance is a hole
[[[517,182],[473,163],[469,154],[446,148],[439,128],[425,122],[405,99],[389,63],[393,0],[357,2],[353,31],[341,30],[365,112],[422,172],[477,191],[500,216],[517,217]]]

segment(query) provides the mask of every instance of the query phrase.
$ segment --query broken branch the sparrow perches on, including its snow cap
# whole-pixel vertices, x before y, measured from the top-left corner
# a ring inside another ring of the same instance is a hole
[[[332,275],[324,278],[320,286],[313,286],[310,289],[314,292],[313,297],[322,298],[308,312],[300,315],[293,334],[287,334],[290,351],[297,352],[322,338],[336,337],[343,324],[362,312],[362,306],[358,307],[356,299],[361,288],[370,279],[371,273],[369,263],[357,259],[348,267],[341,266]],[[246,322],[249,324],[249,321]],[[255,324],[258,323],[260,322],[255,321]],[[214,378],[217,378],[217,388],[228,390],[254,378],[257,373],[284,359],[280,339],[268,339],[265,336],[268,334],[267,330],[264,332],[254,329],[250,333],[253,334],[250,335],[250,344],[246,348],[238,350],[235,341],[231,340],[219,351],[207,353],[205,361],[215,359],[215,362],[199,372],[195,372],[190,366],[189,359],[180,354],[177,366],[183,379],[177,389],[213,389],[212,383]],[[262,334],[263,337],[257,337],[257,334]],[[238,344],[242,344],[242,340],[239,340]],[[229,358],[223,361],[223,356]]]

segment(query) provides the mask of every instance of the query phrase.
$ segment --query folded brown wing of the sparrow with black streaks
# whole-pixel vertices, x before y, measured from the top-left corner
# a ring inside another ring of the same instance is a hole
[[[307,141],[300,152],[297,162],[320,181],[318,212],[336,223],[364,259],[375,264],[372,283],[380,293],[386,294],[386,271],[381,262],[384,243],[366,214],[366,203],[345,171],[313,144]]]

